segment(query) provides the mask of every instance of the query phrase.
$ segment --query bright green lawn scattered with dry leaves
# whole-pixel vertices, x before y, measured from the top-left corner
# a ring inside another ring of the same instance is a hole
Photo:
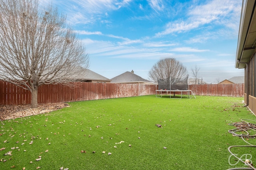
[[[242,107],[242,100],[214,96],[170,99],[150,95],[72,102],[70,107],[48,114],[2,121],[0,169],[225,170],[246,167],[242,163],[231,166],[228,152],[232,145],[247,145],[228,133],[234,128],[228,123],[255,120],[255,116]],[[249,142],[256,145],[255,140],[249,139]],[[9,151],[11,155],[4,155]],[[243,152],[250,152],[252,161],[256,160],[254,148],[235,150],[238,155]],[[36,161],[39,156],[41,160]],[[234,158],[230,161],[236,163]]]

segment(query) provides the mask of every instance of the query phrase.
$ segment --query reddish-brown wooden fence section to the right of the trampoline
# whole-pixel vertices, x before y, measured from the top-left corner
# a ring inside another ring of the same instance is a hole
[[[244,83],[241,84],[192,84],[189,89],[200,96],[244,97]]]

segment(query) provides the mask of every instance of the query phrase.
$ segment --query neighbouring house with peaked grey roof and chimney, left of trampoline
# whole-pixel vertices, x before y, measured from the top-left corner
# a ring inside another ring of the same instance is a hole
[[[156,84],[134,74],[133,70],[131,72],[126,71],[123,74],[112,78],[111,83]]]

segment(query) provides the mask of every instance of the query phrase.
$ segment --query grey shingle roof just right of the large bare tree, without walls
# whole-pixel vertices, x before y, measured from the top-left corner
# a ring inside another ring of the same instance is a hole
[[[111,81],[110,79],[96,73],[93,72],[92,70],[83,68],[81,66],[76,67],[75,69],[79,70],[79,72],[77,72],[77,70],[75,72],[77,72],[76,74],[73,75],[74,78],[76,79],[80,79],[80,80],[97,80],[97,81]]]

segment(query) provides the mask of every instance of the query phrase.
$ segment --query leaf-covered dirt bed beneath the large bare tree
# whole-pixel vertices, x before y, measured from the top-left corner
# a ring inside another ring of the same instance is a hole
[[[18,117],[26,117],[31,115],[38,115],[49,113],[54,110],[69,107],[66,103],[50,103],[38,104],[38,108],[31,109],[30,104],[24,105],[0,105],[0,121],[7,119],[15,119]]]

